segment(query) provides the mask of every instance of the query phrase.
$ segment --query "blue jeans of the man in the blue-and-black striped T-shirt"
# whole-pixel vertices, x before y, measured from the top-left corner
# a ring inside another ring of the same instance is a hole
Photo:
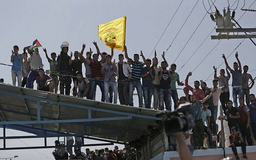
[[[142,86],[140,80],[131,80],[129,83],[129,106],[133,106],[133,90],[136,88],[139,98],[139,107],[142,108]]]

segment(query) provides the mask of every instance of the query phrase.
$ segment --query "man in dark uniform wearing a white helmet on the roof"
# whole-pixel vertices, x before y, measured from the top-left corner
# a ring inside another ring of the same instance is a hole
[[[70,88],[71,88],[71,75],[72,75],[72,60],[71,57],[73,53],[71,52],[70,56],[68,56],[68,42],[64,41],[62,42],[62,45],[60,46],[61,52],[57,57],[57,65],[56,65],[56,71],[60,75],[60,94],[64,94],[64,88],[65,88],[65,94],[70,95]],[[67,76],[64,76],[67,75]]]

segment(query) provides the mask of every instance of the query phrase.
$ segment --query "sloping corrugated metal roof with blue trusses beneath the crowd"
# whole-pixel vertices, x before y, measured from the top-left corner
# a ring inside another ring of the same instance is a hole
[[[148,134],[147,126],[162,120],[155,117],[160,112],[0,84],[0,125],[43,124],[47,130],[130,142]]]

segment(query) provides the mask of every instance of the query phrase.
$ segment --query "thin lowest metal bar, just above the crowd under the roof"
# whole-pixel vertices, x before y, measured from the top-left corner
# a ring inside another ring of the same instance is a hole
[[[80,145],[81,147],[84,146],[106,146],[106,145],[113,145],[114,143],[98,143],[98,144],[83,144]],[[72,145],[72,147],[76,147],[78,145]],[[59,148],[67,147],[66,145],[58,146]],[[70,146],[69,146],[70,147]],[[36,147],[10,147],[10,148],[0,148],[0,150],[22,150],[22,149],[41,149],[41,148],[56,148],[56,146],[36,146]]]

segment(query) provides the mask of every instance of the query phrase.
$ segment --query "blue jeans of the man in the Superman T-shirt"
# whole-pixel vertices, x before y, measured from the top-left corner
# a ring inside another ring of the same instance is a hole
[[[171,88],[160,88],[159,89],[159,110],[164,110],[164,98],[166,100],[165,109],[172,110],[172,90]]]

